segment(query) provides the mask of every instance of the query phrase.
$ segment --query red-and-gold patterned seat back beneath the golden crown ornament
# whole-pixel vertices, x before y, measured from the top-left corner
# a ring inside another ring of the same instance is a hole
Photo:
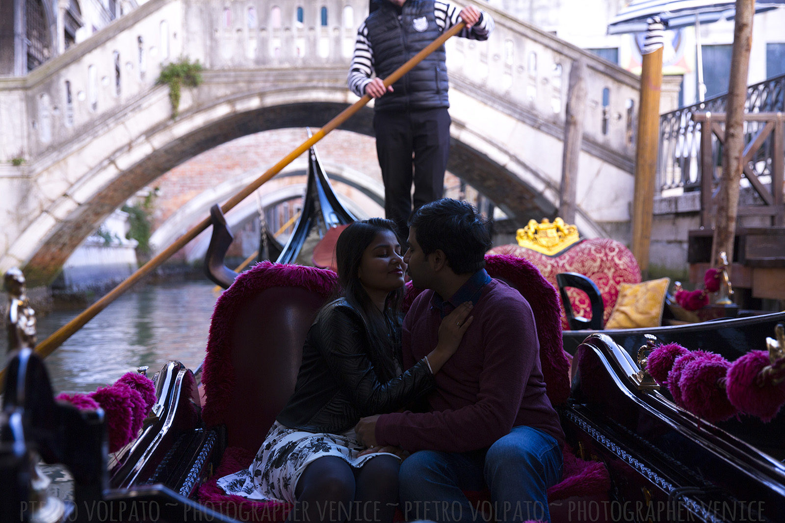
[[[557,287],[556,275],[560,272],[577,272],[591,278],[602,295],[603,325],[610,318],[619,297],[619,285],[641,282],[641,268],[633,253],[622,243],[610,238],[581,240],[557,256],[546,256],[516,244],[499,245],[488,251],[488,254],[510,254],[525,258],[534,263],[554,287]],[[591,318],[589,296],[571,288],[567,289],[567,294],[575,316]],[[561,307],[561,318],[562,328],[569,329],[564,307]]]

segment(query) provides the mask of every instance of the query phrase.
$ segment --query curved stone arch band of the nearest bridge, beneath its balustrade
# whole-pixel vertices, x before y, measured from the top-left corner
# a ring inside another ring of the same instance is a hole
[[[283,127],[319,128],[353,101],[343,86],[314,89],[301,85],[299,89],[255,90],[223,97],[216,96],[216,89],[209,82],[194,89],[176,120],[161,118],[162,106],[168,102],[166,90],[153,89],[148,94],[151,100],[137,105],[132,122],[115,122],[115,129],[108,132],[120,128],[130,139],[121,141],[114,151],[100,151],[93,145],[93,157],[85,162],[83,175],[9,249],[17,260],[29,260],[25,270],[31,282],[51,281],[105,216],[188,158],[250,133]],[[363,107],[340,129],[371,136],[372,116],[372,109]],[[157,123],[149,129],[128,129],[145,121]],[[448,169],[499,202],[513,220],[519,214],[527,218],[553,214],[555,202],[548,198],[555,193],[546,191],[544,176],[535,169],[489,140],[473,136],[468,125],[456,123],[453,138]],[[84,150],[80,153],[82,158],[88,154]],[[49,176],[57,176],[57,169],[64,168],[64,163],[54,162]]]

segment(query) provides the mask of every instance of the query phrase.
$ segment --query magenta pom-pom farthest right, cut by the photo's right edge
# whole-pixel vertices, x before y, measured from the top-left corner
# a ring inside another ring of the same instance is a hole
[[[758,416],[768,423],[785,404],[785,382],[774,385],[769,380],[761,383],[758,374],[769,365],[769,353],[752,350],[731,364],[728,369],[728,400],[739,411]]]

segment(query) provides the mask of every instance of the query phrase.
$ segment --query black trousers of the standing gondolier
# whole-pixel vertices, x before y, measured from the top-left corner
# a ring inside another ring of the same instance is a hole
[[[376,154],[385,183],[385,215],[396,223],[401,242],[406,242],[409,234],[407,220],[411,212],[444,194],[450,122],[447,107],[374,113]]]

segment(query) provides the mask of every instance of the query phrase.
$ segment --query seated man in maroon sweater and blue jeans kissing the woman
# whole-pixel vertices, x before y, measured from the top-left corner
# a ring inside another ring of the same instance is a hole
[[[466,202],[423,205],[410,222],[404,256],[422,292],[403,321],[403,363],[436,346],[441,318],[466,301],[473,323],[436,377],[425,412],[363,418],[369,447],[413,454],[400,467],[407,519],[480,519],[462,490],[491,491],[497,521],[550,521],[547,489],[561,478],[564,433],[546,396],[529,303],[490,278],[485,220]]]

